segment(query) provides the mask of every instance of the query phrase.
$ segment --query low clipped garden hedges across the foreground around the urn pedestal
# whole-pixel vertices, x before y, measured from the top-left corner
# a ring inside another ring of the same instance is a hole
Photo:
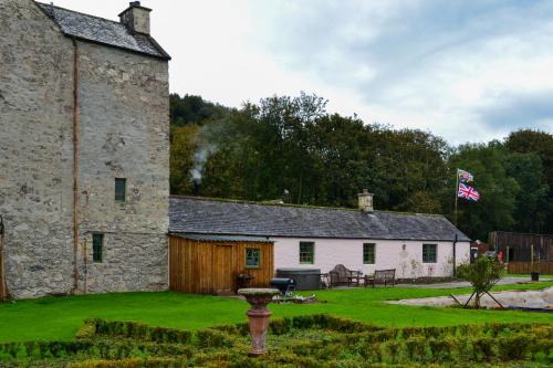
[[[0,366],[137,367],[409,367],[551,364],[551,324],[484,324],[447,327],[375,328],[330,315],[274,320],[270,355],[248,356],[250,337],[243,324],[198,330],[182,343],[173,334],[144,341],[125,322],[88,320],[96,333],[87,340],[30,341],[0,345]],[[132,326],[132,327],[131,327]],[[152,330],[159,328],[150,327]],[[161,328],[163,329],[163,328]],[[123,336],[122,334],[126,334]]]

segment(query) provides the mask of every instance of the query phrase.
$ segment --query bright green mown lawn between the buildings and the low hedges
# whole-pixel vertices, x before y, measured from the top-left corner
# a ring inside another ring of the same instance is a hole
[[[553,282],[498,286],[495,290],[542,288]],[[386,326],[444,326],[486,322],[545,322],[553,316],[541,313],[466,311],[400,306],[387,299],[469,293],[470,290],[378,287],[317,291],[326,303],[271,305],[276,317],[330,313]],[[71,297],[46,297],[0,304],[0,341],[72,339],[85,318],[144,322],[153,326],[198,329],[246,322],[248,305],[237,298],[164,293],[124,293]]]

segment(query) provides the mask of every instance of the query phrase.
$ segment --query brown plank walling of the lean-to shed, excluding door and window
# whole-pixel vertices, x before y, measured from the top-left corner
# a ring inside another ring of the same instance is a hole
[[[218,245],[232,246],[233,290],[237,276],[244,272],[253,275],[252,287],[267,287],[274,274],[273,243],[239,241],[198,241],[169,235],[169,288],[177,292],[213,294],[216,274],[221,270],[215,264]],[[246,269],[246,249],[261,249],[261,266]],[[223,269],[223,267],[222,267]]]

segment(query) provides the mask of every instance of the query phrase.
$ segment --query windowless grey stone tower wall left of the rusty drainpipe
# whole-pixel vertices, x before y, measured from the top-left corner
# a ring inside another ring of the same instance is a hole
[[[0,214],[15,297],[71,287],[72,64],[71,41],[32,1],[0,1]]]

